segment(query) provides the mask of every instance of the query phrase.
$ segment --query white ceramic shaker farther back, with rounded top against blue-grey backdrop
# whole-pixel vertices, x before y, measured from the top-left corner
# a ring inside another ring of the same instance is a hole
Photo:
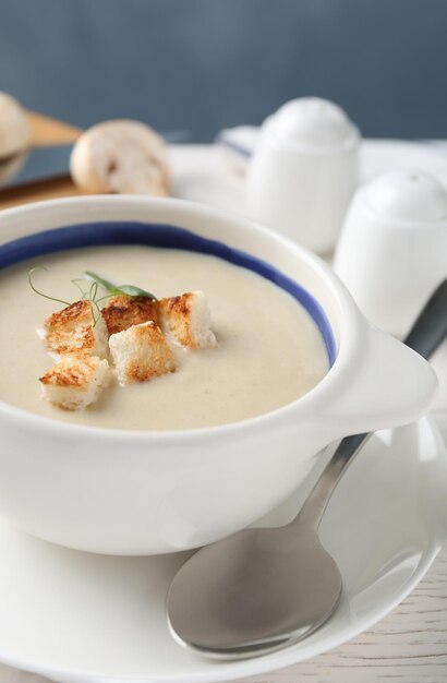
[[[268,117],[246,179],[251,218],[318,253],[335,245],[358,184],[360,134],[325,99],[293,99]]]

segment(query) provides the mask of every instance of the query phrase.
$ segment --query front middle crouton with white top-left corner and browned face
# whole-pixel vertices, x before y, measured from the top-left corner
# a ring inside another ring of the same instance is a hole
[[[109,346],[121,386],[176,370],[172,351],[154,321],[112,334]]]

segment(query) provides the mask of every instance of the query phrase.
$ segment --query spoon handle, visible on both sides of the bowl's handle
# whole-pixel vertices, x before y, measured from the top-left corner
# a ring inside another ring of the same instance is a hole
[[[447,335],[447,279],[434,291],[403,343],[428,359]],[[318,481],[312,489],[303,507],[291,523],[312,523],[318,528],[330,496],[348,465],[354,459],[363,443],[372,434],[353,434],[340,441],[336,452],[326,465]]]

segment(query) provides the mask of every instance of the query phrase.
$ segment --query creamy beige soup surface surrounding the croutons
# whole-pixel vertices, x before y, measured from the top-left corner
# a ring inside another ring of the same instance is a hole
[[[38,378],[53,362],[36,334],[62,308],[32,291],[78,299],[71,279],[86,269],[117,284],[167,297],[202,289],[218,346],[184,350],[171,344],[177,370],[124,387],[116,381],[83,411],[64,411],[40,394]],[[321,333],[301,304],[259,275],[198,253],[149,247],[95,247],[46,255],[0,273],[0,398],[73,424],[176,430],[224,424],[268,412],[317,384],[328,371]]]

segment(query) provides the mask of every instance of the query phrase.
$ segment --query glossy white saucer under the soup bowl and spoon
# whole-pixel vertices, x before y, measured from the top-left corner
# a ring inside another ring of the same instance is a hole
[[[302,644],[242,662],[201,659],[169,635],[165,595],[185,554],[93,555],[2,523],[0,661],[76,683],[227,681],[302,661],[370,627],[412,590],[447,538],[446,490],[447,455],[432,419],[373,436],[321,528],[343,577],[339,608]],[[298,505],[291,499],[274,522]]]

